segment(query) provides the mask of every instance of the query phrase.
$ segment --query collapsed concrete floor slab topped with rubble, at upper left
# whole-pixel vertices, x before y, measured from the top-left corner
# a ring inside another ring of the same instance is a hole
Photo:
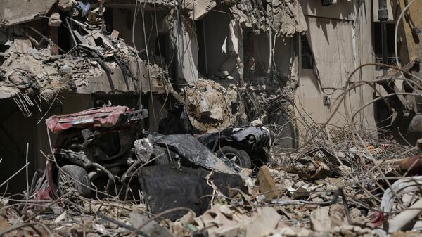
[[[103,41],[108,40],[98,32],[95,35]],[[80,35],[79,37],[84,39]],[[137,58],[134,49],[122,41],[108,41],[110,47],[115,46],[114,51],[103,51],[101,46],[96,46],[95,41],[91,46],[82,46],[82,51],[91,50],[96,55],[103,54],[102,58],[113,58],[106,62],[99,56],[90,57],[89,53],[79,57],[72,56],[71,53],[53,56],[49,49],[36,49],[28,38],[12,39],[13,44],[10,44],[9,49],[0,53],[1,98],[31,91],[38,91],[45,98],[51,98],[62,89],[77,94],[136,93],[139,87],[143,91],[164,90],[162,82],[157,82],[157,75],[162,75],[162,70],[146,65]],[[151,71],[149,78],[147,68]],[[152,86],[147,87],[150,80],[153,82]]]

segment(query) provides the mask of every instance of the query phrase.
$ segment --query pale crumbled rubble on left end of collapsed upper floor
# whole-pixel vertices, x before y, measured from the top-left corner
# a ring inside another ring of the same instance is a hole
[[[25,52],[11,49],[1,53],[1,57],[4,58],[1,68],[5,71],[0,82],[2,93],[15,94],[25,89],[40,91],[49,98],[59,89],[76,89],[87,84],[87,77],[102,74],[95,60],[51,56],[49,49],[30,48]]]

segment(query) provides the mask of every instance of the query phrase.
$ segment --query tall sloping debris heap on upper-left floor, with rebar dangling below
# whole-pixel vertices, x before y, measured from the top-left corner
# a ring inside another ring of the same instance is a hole
[[[68,29],[72,41],[68,51],[31,26],[13,23],[0,29],[4,47],[0,53],[0,98],[13,98],[25,116],[34,105],[44,113],[41,104],[54,102],[60,91],[116,94],[172,90],[165,70],[142,60],[141,53],[126,44],[118,31],[103,29],[102,5],[65,0],[58,1],[57,8],[61,15],[52,13],[48,26]]]

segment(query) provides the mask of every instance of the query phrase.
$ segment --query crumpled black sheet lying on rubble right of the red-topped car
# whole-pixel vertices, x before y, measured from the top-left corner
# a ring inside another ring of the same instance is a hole
[[[152,213],[158,214],[173,207],[188,207],[198,216],[210,205],[211,197],[207,195],[212,195],[213,190],[206,181],[208,174],[210,172],[203,169],[191,169],[172,163],[143,167],[138,177],[146,204]],[[229,188],[244,190],[243,180],[237,174],[214,172],[211,179],[226,196],[229,196]],[[170,212],[165,217],[174,221],[186,212]]]

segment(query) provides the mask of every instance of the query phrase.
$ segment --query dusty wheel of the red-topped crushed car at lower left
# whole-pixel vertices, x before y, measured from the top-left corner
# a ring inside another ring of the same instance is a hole
[[[60,189],[63,179],[60,179],[60,177],[63,177],[65,181],[74,181],[72,182],[72,188],[78,191],[81,196],[84,196],[85,198],[91,196],[91,185],[89,183],[87,171],[84,168],[77,165],[65,165],[60,168],[57,174],[57,185],[59,187],[59,196],[63,196],[65,193]]]

